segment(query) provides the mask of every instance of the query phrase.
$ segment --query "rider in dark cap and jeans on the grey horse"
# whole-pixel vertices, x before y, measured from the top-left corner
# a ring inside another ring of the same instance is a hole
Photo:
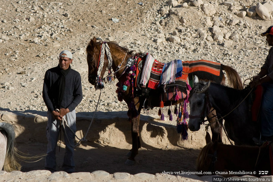
[[[273,25],[261,36],[266,36],[269,46],[273,46]],[[255,142],[263,142],[273,139],[273,47],[269,49],[265,64],[258,75],[253,77],[251,86],[262,84],[264,95],[261,104],[261,138],[253,138]]]

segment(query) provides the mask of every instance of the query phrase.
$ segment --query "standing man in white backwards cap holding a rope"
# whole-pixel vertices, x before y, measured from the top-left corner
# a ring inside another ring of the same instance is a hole
[[[73,173],[74,163],[74,138],[76,132],[75,108],[83,98],[81,76],[79,72],[71,69],[72,54],[64,50],[59,54],[59,65],[45,72],[43,84],[43,99],[47,106],[48,124],[46,136],[48,139],[45,158],[45,169],[52,173],[56,171],[56,146],[59,138],[62,118],[66,119],[72,131],[65,126],[67,136],[64,135],[66,144],[63,159],[63,170]],[[58,110],[59,111],[58,111]]]

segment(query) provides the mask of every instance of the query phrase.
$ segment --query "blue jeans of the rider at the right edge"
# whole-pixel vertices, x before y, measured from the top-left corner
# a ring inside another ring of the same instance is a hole
[[[265,92],[261,105],[261,135],[273,135],[273,83],[262,84]]]

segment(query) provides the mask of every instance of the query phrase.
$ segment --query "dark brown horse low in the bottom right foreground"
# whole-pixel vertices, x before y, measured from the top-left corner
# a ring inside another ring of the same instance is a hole
[[[261,147],[226,145],[212,142],[209,133],[206,134],[206,143],[197,158],[197,171],[224,176],[271,175],[268,143]]]

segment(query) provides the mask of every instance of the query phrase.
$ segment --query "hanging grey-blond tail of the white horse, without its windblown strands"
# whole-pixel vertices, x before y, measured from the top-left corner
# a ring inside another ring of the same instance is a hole
[[[0,123],[0,130],[2,130],[1,133],[7,137],[7,151],[3,169],[7,172],[21,170],[22,166],[17,161],[20,155],[15,147],[15,132],[13,126],[8,123]]]

